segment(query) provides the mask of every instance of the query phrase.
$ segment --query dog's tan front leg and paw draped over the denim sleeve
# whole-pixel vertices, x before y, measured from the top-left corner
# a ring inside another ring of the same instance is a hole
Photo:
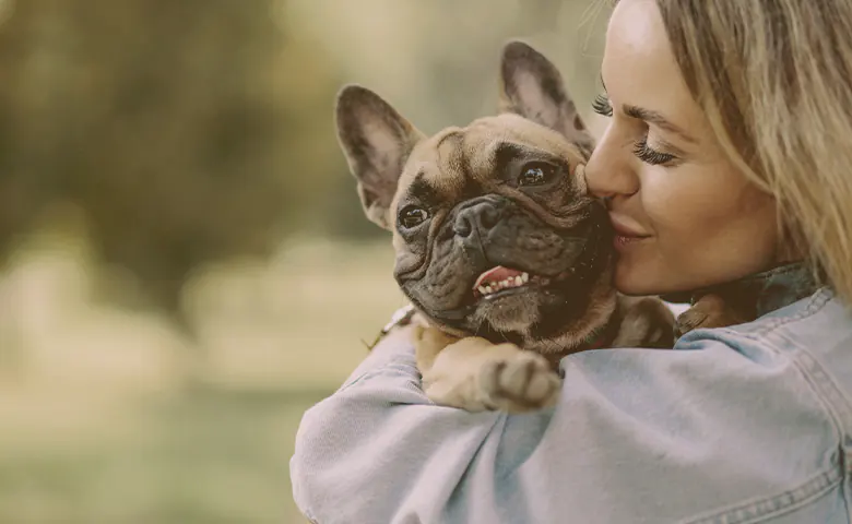
[[[481,337],[452,341],[435,327],[414,327],[423,388],[436,404],[524,413],[556,402],[561,381],[541,355]]]

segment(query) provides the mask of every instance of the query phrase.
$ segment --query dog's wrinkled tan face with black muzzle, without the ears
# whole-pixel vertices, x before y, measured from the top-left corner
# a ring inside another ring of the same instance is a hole
[[[400,286],[440,323],[551,338],[610,266],[606,213],[581,152],[513,115],[417,144],[391,210]]]

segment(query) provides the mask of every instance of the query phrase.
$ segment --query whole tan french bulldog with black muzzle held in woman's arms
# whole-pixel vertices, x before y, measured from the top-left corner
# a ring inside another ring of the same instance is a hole
[[[568,354],[671,348],[674,315],[612,286],[614,235],[582,175],[594,140],[557,68],[511,41],[500,81],[497,116],[433,136],[347,85],[336,127],[367,217],[393,234],[426,394],[522,413],[555,402]]]

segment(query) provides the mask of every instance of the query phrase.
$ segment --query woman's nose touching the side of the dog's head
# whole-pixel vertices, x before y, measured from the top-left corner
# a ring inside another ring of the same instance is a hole
[[[585,165],[589,192],[599,198],[613,198],[639,191],[635,159],[632,141],[624,136],[619,139],[618,130],[611,123]]]

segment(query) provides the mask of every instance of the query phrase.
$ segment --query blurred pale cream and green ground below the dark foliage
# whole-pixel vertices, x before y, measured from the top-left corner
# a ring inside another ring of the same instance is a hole
[[[403,303],[390,247],[300,243],[199,274],[188,385],[168,324],[99,303],[64,246],[25,250],[0,281],[19,355],[0,366],[0,523],[304,523],[295,431]]]

